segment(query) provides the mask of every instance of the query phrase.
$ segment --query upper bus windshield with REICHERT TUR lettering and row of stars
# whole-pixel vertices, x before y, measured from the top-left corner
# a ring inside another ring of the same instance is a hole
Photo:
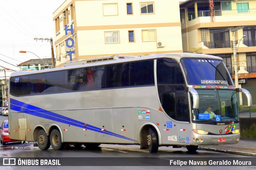
[[[223,61],[182,59],[181,63],[189,85],[233,85]]]

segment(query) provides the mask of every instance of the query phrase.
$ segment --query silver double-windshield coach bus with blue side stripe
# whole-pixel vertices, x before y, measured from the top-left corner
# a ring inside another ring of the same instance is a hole
[[[33,141],[42,150],[104,143],[196,151],[199,145],[238,143],[237,93],[246,94],[249,106],[252,98],[235,88],[222,58],[121,58],[11,74],[10,138]]]

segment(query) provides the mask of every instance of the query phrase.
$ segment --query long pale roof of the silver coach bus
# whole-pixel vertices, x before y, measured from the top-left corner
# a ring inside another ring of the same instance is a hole
[[[110,59],[108,59],[110,58]],[[112,58],[112,59],[111,59]],[[19,75],[26,75],[26,74],[35,74],[39,72],[51,72],[51,71],[58,71],[58,70],[69,70],[74,68],[83,68],[89,66],[98,66],[98,65],[107,65],[107,64],[114,64],[114,63],[124,63],[129,61],[140,61],[140,60],[148,60],[148,59],[157,59],[157,58],[172,58],[180,63],[180,59],[182,58],[208,58],[208,59],[215,59],[221,60],[221,57],[213,56],[213,55],[206,55],[206,54],[197,54],[197,53],[165,53],[165,54],[151,54],[151,55],[140,55],[140,56],[132,56],[132,55],[113,55],[113,56],[106,56],[106,57],[98,57],[98,58],[90,58],[84,59],[79,61],[68,62],[71,64],[67,64],[69,66],[59,67],[59,68],[51,68],[51,69],[44,69],[44,70],[32,70],[32,71],[16,71],[13,72],[10,77],[12,76],[19,76]],[[96,61],[98,60],[98,61]],[[90,61],[90,62],[88,62]],[[77,63],[77,64],[72,64]]]

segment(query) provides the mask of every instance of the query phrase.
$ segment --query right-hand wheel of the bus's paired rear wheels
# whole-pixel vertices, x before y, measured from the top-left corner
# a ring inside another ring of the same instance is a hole
[[[54,129],[50,135],[50,143],[52,145],[52,149],[54,150],[62,150],[65,148],[66,143],[61,143],[61,135],[57,129]]]

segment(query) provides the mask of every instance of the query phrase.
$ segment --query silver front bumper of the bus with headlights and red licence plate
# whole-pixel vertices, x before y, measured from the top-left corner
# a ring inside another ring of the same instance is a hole
[[[236,144],[240,139],[240,133],[232,135],[200,135],[194,133],[191,136],[190,145],[228,145]]]

